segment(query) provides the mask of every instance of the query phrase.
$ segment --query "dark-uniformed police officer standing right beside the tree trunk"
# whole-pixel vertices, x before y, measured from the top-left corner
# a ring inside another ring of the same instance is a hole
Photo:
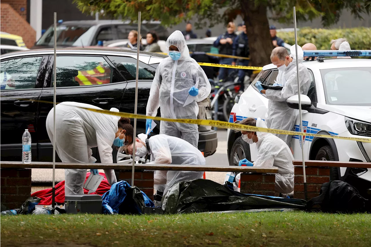
[[[246,25],[245,22],[242,22],[242,33],[240,33],[233,41],[233,55],[239,57],[249,57],[249,39],[247,39]],[[248,66],[249,60],[247,59],[236,59],[237,65]],[[244,78],[245,72],[250,73],[252,70],[239,69],[238,70],[238,81],[241,84],[241,90],[244,91]],[[249,75],[249,76],[250,76]]]

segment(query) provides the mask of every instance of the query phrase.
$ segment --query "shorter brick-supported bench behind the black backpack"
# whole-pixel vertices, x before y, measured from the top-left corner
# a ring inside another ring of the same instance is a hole
[[[294,197],[304,199],[303,161],[293,162],[295,169]],[[330,177],[330,167],[371,168],[370,162],[342,162],[342,161],[305,161],[306,186],[308,199],[318,196],[321,186],[333,180]]]

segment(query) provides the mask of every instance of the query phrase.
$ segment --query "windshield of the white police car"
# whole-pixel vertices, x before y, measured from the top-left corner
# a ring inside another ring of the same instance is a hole
[[[326,104],[371,106],[371,67],[321,69]]]

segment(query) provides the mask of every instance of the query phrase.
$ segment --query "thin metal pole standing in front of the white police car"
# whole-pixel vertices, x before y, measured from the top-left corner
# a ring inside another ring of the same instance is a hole
[[[301,98],[300,98],[300,82],[299,82],[299,61],[298,61],[298,37],[296,36],[296,9],[293,7],[294,11],[294,32],[295,32],[295,52],[296,52],[296,75],[298,76],[298,96],[299,96],[299,116],[300,116],[300,132],[303,132],[303,118],[301,110]],[[308,192],[306,189],[306,177],[305,177],[305,160],[304,160],[304,136],[300,135],[301,148],[302,148],[302,159],[303,159],[303,177],[304,177],[304,197],[308,201]]]

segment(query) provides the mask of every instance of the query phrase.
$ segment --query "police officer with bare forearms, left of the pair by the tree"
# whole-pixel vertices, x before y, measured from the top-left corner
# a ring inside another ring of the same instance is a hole
[[[214,45],[219,49],[219,54],[232,55],[233,54],[233,40],[236,39],[236,33],[234,33],[236,26],[234,22],[230,22],[227,25],[227,32],[221,34],[217,40],[215,40]],[[219,60],[220,64],[236,65],[233,58],[222,57]],[[221,67],[219,69],[219,80],[224,80],[228,76],[231,69]]]

